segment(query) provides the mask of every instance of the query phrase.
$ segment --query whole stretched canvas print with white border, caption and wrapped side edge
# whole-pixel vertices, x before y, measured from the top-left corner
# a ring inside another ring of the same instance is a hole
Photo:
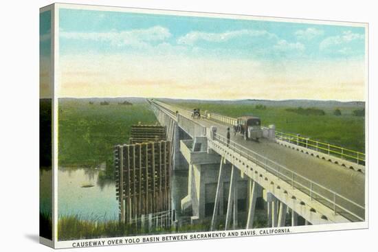
[[[59,3],[39,32],[41,243],[368,227],[366,23]]]

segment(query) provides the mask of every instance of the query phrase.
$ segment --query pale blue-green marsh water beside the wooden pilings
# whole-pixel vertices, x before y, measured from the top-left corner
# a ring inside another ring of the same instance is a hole
[[[99,179],[93,168],[58,169],[58,215],[79,216],[83,220],[118,220],[118,201],[114,181]],[[51,173],[41,173],[41,183]],[[179,209],[188,190],[188,171],[178,170],[172,176],[173,209]]]

